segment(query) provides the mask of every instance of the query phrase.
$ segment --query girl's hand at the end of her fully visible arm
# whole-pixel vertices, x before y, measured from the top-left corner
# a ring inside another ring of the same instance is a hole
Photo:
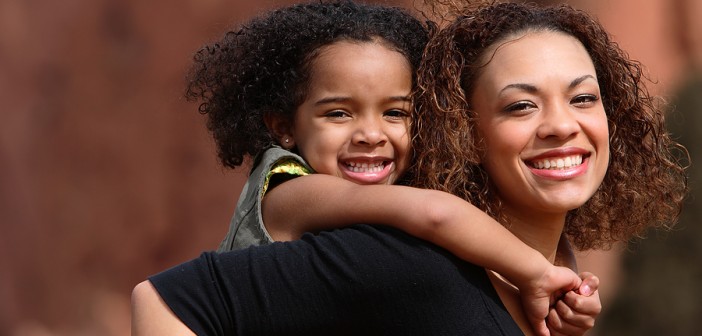
[[[520,291],[520,296],[522,299],[522,306],[524,307],[524,313],[526,314],[529,323],[531,323],[532,328],[536,335],[554,335],[551,331],[550,325],[547,325],[547,318],[550,318],[550,307],[559,299],[564,297],[564,293],[573,292],[574,290],[583,289],[581,286],[581,279],[575,272],[566,267],[554,266],[548,264],[549,267],[546,272],[541,276],[540,279],[535,279],[526,286],[518,286]],[[596,279],[596,278],[595,278]],[[588,284],[588,286],[590,286]],[[599,300],[597,301],[599,303]],[[590,305],[592,302],[589,303]],[[593,308],[588,305],[588,308]],[[598,312],[599,313],[599,312]],[[582,316],[578,315],[578,318]],[[588,316],[590,317],[590,316]],[[592,319],[594,323],[594,318]],[[562,319],[558,322],[567,321],[571,323],[571,319]],[[577,324],[580,326],[580,324]],[[570,324],[568,325],[570,327]],[[561,330],[556,328],[554,330]],[[558,334],[556,334],[558,335]]]

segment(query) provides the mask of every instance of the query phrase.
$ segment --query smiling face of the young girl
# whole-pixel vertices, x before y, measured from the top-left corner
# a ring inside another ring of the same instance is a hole
[[[402,54],[372,42],[326,46],[313,61],[292,141],[317,173],[392,184],[409,164],[411,89]]]

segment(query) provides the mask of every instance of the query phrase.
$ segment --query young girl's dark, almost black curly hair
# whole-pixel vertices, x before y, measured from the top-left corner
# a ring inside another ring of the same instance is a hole
[[[219,159],[234,168],[274,143],[264,115],[292,120],[321,47],[342,40],[382,43],[407,57],[414,75],[427,34],[421,21],[397,7],[322,1],[280,8],[201,48],[186,98],[201,102]]]

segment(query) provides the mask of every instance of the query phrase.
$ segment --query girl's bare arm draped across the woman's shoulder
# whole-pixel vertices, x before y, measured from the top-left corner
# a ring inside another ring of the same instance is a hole
[[[555,267],[475,206],[449,193],[397,185],[358,185],[312,174],[266,193],[263,222],[275,240],[357,223],[384,224],[431,241],[457,257],[500,273],[521,292],[538,334],[556,292],[575,289],[577,275]]]

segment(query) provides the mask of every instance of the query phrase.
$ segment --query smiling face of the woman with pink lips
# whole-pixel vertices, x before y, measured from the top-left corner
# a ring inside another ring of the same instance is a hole
[[[471,96],[482,165],[509,212],[565,216],[594,194],[609,161],[594,65],[563,33],[532,32],[497,45]]]

